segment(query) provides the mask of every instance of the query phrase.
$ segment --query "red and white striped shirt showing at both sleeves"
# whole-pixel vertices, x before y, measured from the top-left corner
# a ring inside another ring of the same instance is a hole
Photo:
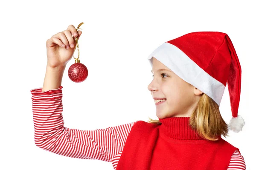
[[[62,156],[111,162],[116,169],[134,121],[98,130],[64,127],[62,86],[42,92],[31,90],[36,146]],[[227,170],[246,170],[244,157],[236,150]]]

